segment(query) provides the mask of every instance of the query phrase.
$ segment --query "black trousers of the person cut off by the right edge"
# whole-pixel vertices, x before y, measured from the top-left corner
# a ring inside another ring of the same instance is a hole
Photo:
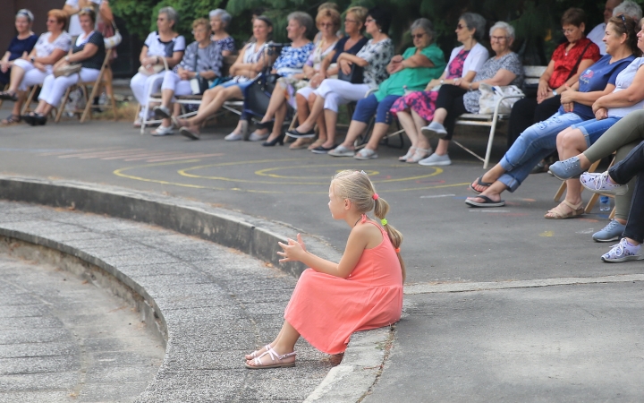
[[[617,184],[628,184],[633,176],[637,176],[623,236],[644,243],[644,141],[632,149],[625,159],[611,167],[608,175]]]

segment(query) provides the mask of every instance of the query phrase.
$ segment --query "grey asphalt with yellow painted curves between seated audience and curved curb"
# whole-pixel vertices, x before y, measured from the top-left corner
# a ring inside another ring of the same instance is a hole
[[[505,194],[505,208],[476,210],[463,199],[483,170],[456,148],[453,166],[428,168],[399,163],[401,150],[386,147],[380,159],[362,162],[222,141],[230,129],[187,141],[140,136],[127,124],[14,126],[0,133],[0,171],[207,201],[287,222],[342,249],[348,228],[329,219],[328,179],[338,169],[364,169],[392,204],[388,219],[405,236],[409,273],[391,361],[368,400],[405,394],[415,397],[410,401],[430,395],[444,401],[644,398],[639,385],[625,386],[642,369],[640,278],[584,285],[641,273],[641,263],[599,261],[610,244],[590,240],[607,222],[597,208],[582,219],[543,219],[555,205],[560,183],[554,177],[530,176],[516,193]],[[464,139],[483,149],[482,137]],[[495,159],[503,142],[497,141]],[[533,288],[541,279],[562,285]],[[481,291],[491,286],[479,282],[518,288]],[[453,284],[469,291],[439,287]],[[621,372],[628,376],[610,382]],[[602,393],[593,391],[600,387]]]

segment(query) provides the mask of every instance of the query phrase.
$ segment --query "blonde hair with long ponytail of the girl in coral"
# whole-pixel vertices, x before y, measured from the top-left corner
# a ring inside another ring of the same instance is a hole
[[[338,172],[331,183],[334,184],[335,194],[341,199],[352,201],[356,210],[360,213],[366,214],[373,210],[376,217],[380,219],[387,236],[389,236],[389,240],[394,245],[398,261],[401,264],[402,281],[404,282],[407,273],[400,254],[402,234],[386,221],[389,203],[377,195],[374,185],[364,171],[344,170]]]

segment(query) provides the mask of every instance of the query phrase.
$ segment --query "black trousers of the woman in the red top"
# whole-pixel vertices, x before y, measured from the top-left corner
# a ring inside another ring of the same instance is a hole
[[[561,95],[548,98],[540,104],[537,103],[536,97],[526,97],[516,101],[508,122],[508,149],[512,147],[514,141],[519,138],[524,130],[532,124],[543,122],[548,117],[555,115],[559,107],[561,107]]]

